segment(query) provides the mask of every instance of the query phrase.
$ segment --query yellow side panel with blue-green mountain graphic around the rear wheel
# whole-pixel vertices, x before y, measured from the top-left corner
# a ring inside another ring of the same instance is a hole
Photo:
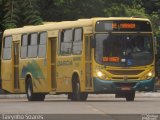
[[[34,92],[49,91],[46,59],[21,60],[20,64],[21,80],[25,80],[27,74],[29,74],[32,78]],[[25,86],[22,88],[25,88]]]

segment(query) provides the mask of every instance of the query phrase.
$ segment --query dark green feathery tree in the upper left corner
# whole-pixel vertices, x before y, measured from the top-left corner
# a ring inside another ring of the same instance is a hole
[[[31,0],[0,0],[0,29],[42,24]]]

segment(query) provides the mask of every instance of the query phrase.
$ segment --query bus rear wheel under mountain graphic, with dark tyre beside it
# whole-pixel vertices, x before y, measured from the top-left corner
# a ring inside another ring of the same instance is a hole
[[[33,85],[32,85],[32,79],[27,79],[27,85],[26,85],[26,93],[28,101],[44,101],[45,94],[43,93],[33,93]]]

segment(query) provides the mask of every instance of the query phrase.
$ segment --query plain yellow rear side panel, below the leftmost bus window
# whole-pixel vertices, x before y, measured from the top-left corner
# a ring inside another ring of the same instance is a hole
[[[2,89],[13,93],[14,83],[13,83],[13,64],[12,60],[2,60],[1,73],[2,73]]]

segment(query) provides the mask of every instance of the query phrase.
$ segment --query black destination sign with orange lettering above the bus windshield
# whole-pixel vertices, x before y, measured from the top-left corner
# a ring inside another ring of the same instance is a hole
[[[151,25],[148,21],[137,20],[114,20],[97,21],[96,32],[151,32]]]

